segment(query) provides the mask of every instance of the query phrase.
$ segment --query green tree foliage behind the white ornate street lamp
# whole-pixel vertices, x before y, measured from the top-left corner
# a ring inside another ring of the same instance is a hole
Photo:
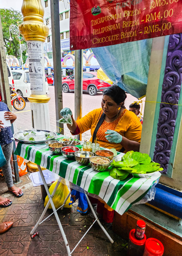
[[[19,24],[22,23],[23,16],[21,12],[16,11],[12,8],[0,9],[0,14],[1,14],[1,22],[2,22],[2,28],[3,28],[3,39],[4,39],[4,44],[7,49],[8,55],[13,55],[16,58],[20,59],[19,40],[17,38],[17,35],[14,35],[11,33],[11,38],[13,40],[11,42],[9,41],[9,26],[12,24],[18,26],[17,22]],[[20,37],[22,36],[20,35]],[[26,45],[25,40],[21,40],[21,44]],[[23,63],[25,63],[27,59],[27,56],[25,56],[25,54],[26,54],[26,51],[22,51]]]

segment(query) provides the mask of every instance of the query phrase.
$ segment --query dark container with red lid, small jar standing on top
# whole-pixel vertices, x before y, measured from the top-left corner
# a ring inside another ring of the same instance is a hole
[[[144,234],[144,238],[142,240],[138,240],[135,237],[135,228],[129,232],[129,242],[128,242],[128,256],[141,256],[144,252],[146,242],[146,235]]]

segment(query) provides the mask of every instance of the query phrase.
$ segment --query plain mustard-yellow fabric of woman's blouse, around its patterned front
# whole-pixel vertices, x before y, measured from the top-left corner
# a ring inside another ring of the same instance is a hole
[[[139,118],[132,111],[129,111],[126,109],[124,110],[123,113],[124,114],[121,115],[122,118],[119,120],[115,131],[121,134],[122,136],[126,137],[128,140],[137,141],[140,143],[142,126]],[[84,133],[88,130],[91,130],[91,135],[93,137],[95,127],[98,123],[98,120],[101,114],[102,114],[101,108],[94,109],[90,111],[87,115],[82,117],[81,119],[77,120],[76,123],[81,131],[80,133]],[[108,125],[109,124],[111,123],[108,123]],[[90,141],[92,141],[92,137],[90,138]],[[97,138],[97,143],[99,143],[100,146],[102,147],[115,148],[117,151],[120,151],[122,148],[122,145],[120,143],[109,143],[109,142],[106,143],[101,140],[99,141],[98,138]]]

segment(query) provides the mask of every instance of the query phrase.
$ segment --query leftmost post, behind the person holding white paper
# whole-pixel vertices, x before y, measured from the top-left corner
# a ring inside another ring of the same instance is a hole
[[[10,97],[10,90],[9,90],[9,81],[8,81],[8,70],[6,66],[6,56],[4,51],[4,41],[3,41],[3,30],[2,30],[2,23],[1,23],[1,15],[0,15],[0,83],[1,83],[1,93],[4,95],[3,99],[4,102],[7,104],[8,108],[12,110],[11,106],[11,97]],[[12,133],[14,133],[13,125],[11,125]],[[13,166],[15,172],[15,184],[22,182],[19,178],[18,173],[18,164],[17,164],[17,156],[14,155],[14,151],[16,150],[15,141],[13,141]]]

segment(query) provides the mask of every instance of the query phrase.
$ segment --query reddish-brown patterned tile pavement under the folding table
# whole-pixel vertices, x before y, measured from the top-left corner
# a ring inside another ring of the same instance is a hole
[[[55,216],[51,216],[38,228],[39,237],[31,238],[30,231],[44,209],[40,187],[32,187],[27,175],[21,177],[20,186],[24,195],[16,198],[7,191],[4,180],[0,180],[0,195],[12,199],[12,205],[0,208],[0,221],[13,221],[13,227],[0,235],[0,255],[2,256],[67,256],[67,251]],[[48,210],[47,217],[52,210]],[[72,250],[93,218],[82,216],[76,212],[76,206],[64,208],[58,212],[61,224]],[[106,228],[107,229],[107,228]],[[114,240],[111,244],[100,227],[94,224],[92,229],[75,249],[73,256],[125,256],[126,242],[111,230],[107,229]],[[124,246],[125,245],[125,246]],[[89,249],[87,249],[89,247]]]

